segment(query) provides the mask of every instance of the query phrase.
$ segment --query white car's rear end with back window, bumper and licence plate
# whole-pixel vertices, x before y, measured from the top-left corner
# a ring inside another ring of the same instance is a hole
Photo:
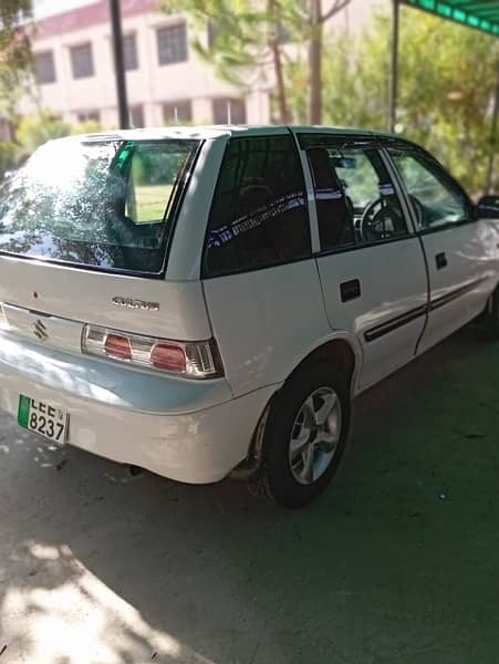
[[[223,136],[52,142],[0,191],[0,408],[21,426],[190,483],[247,454],[198,261]],[[208,206],[208,207],[207,207]]]

